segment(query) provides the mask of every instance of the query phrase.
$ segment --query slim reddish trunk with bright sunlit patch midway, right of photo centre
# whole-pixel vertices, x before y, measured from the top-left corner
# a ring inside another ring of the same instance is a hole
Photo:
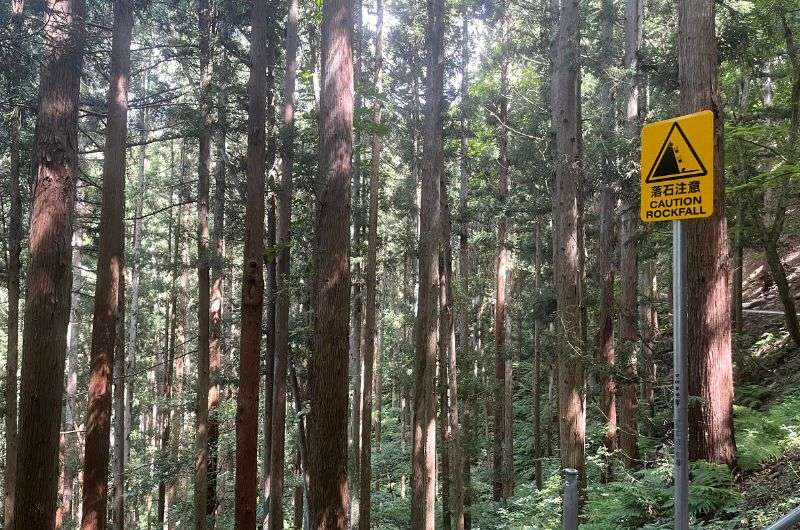
[[[494,403],[494,478],[492,480],[492,497],[495,501],[508,499],[513,491],[513,463],[508,461],[505,451],[507,433],[513,425],[506,424],[509,416],[506,410],[505,394],[511,386],[511,357],[506,352],[506,285],[508,282],[508,265],[511,251],[508,247],[508,218],[505,209],[508,202],[508,6],[505,0],[500,3],[500,32],[502,57],[500,59],[500,101],[497,124],[500,158],[498,160],[499,184],[498,199],[500,202],[500,218],[497,221],[497,261],[494,314],[495,342],[495,403]]]

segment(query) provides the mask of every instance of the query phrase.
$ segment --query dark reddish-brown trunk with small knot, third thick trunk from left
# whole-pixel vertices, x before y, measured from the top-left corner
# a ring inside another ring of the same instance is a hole
[[[264,306],[264,175],[267,94],[266,0],[253,4],[248,86],[247,205],[242,271],[241,357],[236,402],[237,528],[255,528],[258,453],[258,383]]]

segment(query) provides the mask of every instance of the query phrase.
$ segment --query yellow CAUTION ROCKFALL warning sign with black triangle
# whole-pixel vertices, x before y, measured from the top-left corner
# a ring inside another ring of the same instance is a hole
[[[642,221],[714,213],[714,114],[710,110],[642,127]]]

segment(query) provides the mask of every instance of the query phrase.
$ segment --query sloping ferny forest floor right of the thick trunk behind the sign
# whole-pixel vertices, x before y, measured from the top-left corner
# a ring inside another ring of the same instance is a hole
[[[800,238],[789,238],[783,257],[800,307]],[[800,348],[787,336],[777,289],[764,289],[760,260],[745,256],[744,330],[736,338],[739,528],[764,528],[800,506]]]

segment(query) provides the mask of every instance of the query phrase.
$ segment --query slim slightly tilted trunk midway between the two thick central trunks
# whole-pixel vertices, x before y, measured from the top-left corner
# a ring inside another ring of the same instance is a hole
[[[372,104],[372,121],[377,127],[381,123],[381,94],[383,92],[383,0],[377,0],[377,26],[375,31],[375,90]],[[366,290],[367,307],[364,322],[364,393],[361,416],[361,465],[358,528],[370,529],[372,505],[372,396],[377,388],[375,367],[376,292],[378,269],[378,199],[380,196],[381,149],[383,142],[377,132],[372,134],[372,167],[369,179],[369,224],[367,232]],[[378,399],[380,403],[380,398]],[[380,427],[376,424],[376,430]],[[376,432],[377,434],[377,432]]]

